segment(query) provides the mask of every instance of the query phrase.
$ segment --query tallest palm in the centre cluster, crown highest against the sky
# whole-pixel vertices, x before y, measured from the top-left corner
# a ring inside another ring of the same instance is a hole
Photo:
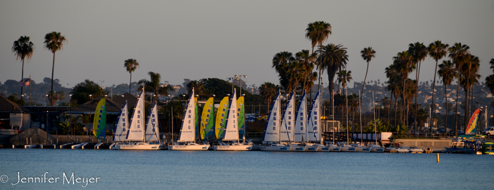
[[[309,23],[307,25],[307,29],[305,29],[305,37],[311,40],[312,43],[312,53],[314,53],[314,47],[319,44],[319,52],[322,52],[323,42],[326,41],[331,35],[331,25],[324,21],[317,21],[313,23]],[[321,67],[323,63],[322,57],[319,59],[319,82],[318,88],[321,86],[321,72],[324,68]],[[332,82],[332,81],[331,81]],[[333,85],[334,86],[334,85]]]

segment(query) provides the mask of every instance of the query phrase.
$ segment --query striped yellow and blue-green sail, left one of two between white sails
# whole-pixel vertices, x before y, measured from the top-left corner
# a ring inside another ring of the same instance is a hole
[[[210,97],[204,104],[201,115],[201,139],[214,138],[214,98]]]

